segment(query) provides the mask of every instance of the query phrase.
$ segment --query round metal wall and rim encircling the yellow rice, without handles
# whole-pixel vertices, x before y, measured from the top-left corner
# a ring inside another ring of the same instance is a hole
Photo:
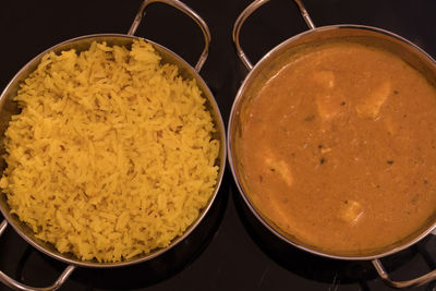
[[[52,48],[49,48],[48,50],[44,51],[43,53],[40,53],[38,57],[36,57],[35,59],[33,59],[29,63],[27,63],[27,65],[25,65],[19,73],[12,80],[12,82],[7,86],[5,90],[3,92],[3,94],[0,96],[0,102],[9,102],[10,98],[12,98],[17,89],[17,86],[20,84],[20,82],[22,82],[24,78],[27,77],[27,75],[34,70],[35,65],[39,63],[40,58],[46,54],[49,51],[55,51],[55,52],[60,52],[62,50],[69,50],[71,48],[75,48],[77,51],[84,50],[86,49],[93,41],[106,41],[109,46],[113,46],[113,45],[122,45],[122,46],[129,46],[133,39],[136,39],[137,37],[134,36],[125,36],[125,35],[89,35],[89,36],[82,36],[78,38],[74,38],[74,39],[70,39],[66,40],[62,44],[59,44]],[[210,93],[210,90],[207,88],[207,85],[205,84],[205,82],[202,80],[202,77],[196,74],[196,72],[194,71],[194,69],[189,65],[184,60],[180,59],[175,53],[173,53],[172,51],[168,50],[167,48],[155,44],[150,40],[147,40],[148,43],[152,43],[155,47],[155,49],[158,51],[158,53],[162,57],[162,61],[164,62],[168,62],[168,63],[172,63],[179,66],[180,69],[180,73],[184,78],[194,78],[197,82],[198,87],[202,89],[205,98],[207,99],[207,109],[211,112],[213,118],[214,118],[214,122],[215,125],[217,128],[217,132],[215,133],[215,138],[218,138],[221,142],[221,150],[220,150],[220,156],[218,159],[218,165],[220,167],[220,172],[218,175],[218,181],[217,181],[217,186],[216,190],[213,194],[213,198],[208,204],[208,207],[210,207],[210,204],[213,203],[213,199],[215,198],[215,195],[219,189],[220,185],[220,181],[222,179],[222,174],[223,174],[223,168],[225,168],[225,160],[226,160],[226,143],[225,143],[225,129],[223,129],[223,123],[222,123],[222,119],[220,118],[220,112],[218,109],[218,106],[215,102],[215,99]],[[17,110],[17,108],[13,107],[14,105],[8,105],[8,106],[3,106],[2,109],[0,109],[0,112],[2,113],[2,116],[11,116],[15,110]],[[7,110],[8,109],[8,110]],[[11,110],[12,109],[12,110]],[[2,111],[1,111],[2,110]],[[5,129],[5,125],[3,126],[3,130]],[[1,134],[3,134],[3,132],[1,132]],[[131,265],[134,263],[138,263],[138,262],[143,262],[149,258],[153,258],[159,254],[161,254],[162,252],[165,252],[167,248],[164,250],[158,250],[145,257],[141,257],[138,258],[134,258],[132,260],[128,260],[128,262],[122,262],[122,263],[108,263],[108,264],[101,264],[101,263],[97,263],[97,262],[81,262],[72,256],[69,255],[63,255],[63,254],[59,254],[50,244],[44,243],[39,240],[37,240],[36,238],[34,238],[33,235],[33,231],[31,229],[28,229],[26,226],[24,226],[16,216],[11,215],[9,213],[9,206],[7,204],[5,201],[5,196],[2,195],[0,197],[0,206],[1,206],[1,210],[3,213],[3,216],[5,217],[5,219],[8,219],[8,221],[10,222],[10,225],[15,229],[15,231],[17,231],[28,243],[33,244],[35,247],[39,248],[40,251],[58,258],[61,259],[65,263],[69,264],[76,264],[76,265],[81,265],[81,266],[86,266],[86,267],[117,267],[117,266],[126,266],[126,265]],[[208,208],[207,207],[207,208]],[[181,240],[183,240],[183,238],[185,238],[186,235],[189,235],[189,233],[192,231],[193,228],[195,228],[195,226],[199,222],[199,220],[202,219],[202,217],[205,215],[205,213],[207,211],[207,208],[203,210],[201,217],[197,219],[197,221],[186,231],[186,233],[183,237],[178,238],[171,245],[173,246],[174,244],[177,244],[178,242],[180,242]]]

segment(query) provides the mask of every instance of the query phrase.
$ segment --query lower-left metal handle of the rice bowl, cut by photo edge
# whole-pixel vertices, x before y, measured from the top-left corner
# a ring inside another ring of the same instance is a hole
[[[0,225],[0,235],[4,232],[4,230],[8,227],[8,222],[4,219],[1,225]],[[25,286],[21,282],[15,281],[14,279],[12,279],[11,277],[9,277],[8,275],[5,275],[4,272],[0,271],[0,281],[2,283],[4,283],[5,286],[8,286],[9,288],[12,288],[14,290],[23,290],[23,291],[49,291],[49,290],[57,290],[59,289],[64,282],[65,280],[70,277],[70,275],[73,272],[73,270],[75,269],[75,266],[73,265],[69,265],[63,271],[62,274],[59,276],[58,280],[56,280],[55,283],[52,283],[49,287],[29,287],[29,286]]]

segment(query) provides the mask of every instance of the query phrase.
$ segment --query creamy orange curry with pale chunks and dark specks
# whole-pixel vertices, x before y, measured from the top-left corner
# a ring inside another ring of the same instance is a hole
[[[387,247],[436,208],[436,90],[393,54],[332,43],[287,63],[241,129],[250,199],[307,245]]]

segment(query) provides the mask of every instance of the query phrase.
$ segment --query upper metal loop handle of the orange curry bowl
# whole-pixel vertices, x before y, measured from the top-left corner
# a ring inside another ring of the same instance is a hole
[[[245,65],[245,68],[249,71],[251,71],[253,69],[253,64],[251,63],[249,58],[245,56],[245,52],[241,48],[241,44],[239,43],[239,34],[240,34],[240,31],[241,31],[241,26],[242,26],[242,24],[244,24],[245,20],[254,11],[256,11],[259,7],[262,7],[263,4],[265,4],[267,2],[269,2],[269,0],[255,0],[255,1],[253,1],[250,5],[247,5],[245,8],[244,11],[242,11],[242,13],[239,15],[239,17],[237,19],[237,21],[234,22],[234,25],[233,25],[233,33],[232,33],[233,43],[234,43],[234,46],[237,47],[237,52],[238,52],[239,58],[241,59],[242,63]],[[315,28],[315,24],[312,22],[312,19],[308,15],[306,9],[304,8],[303,2],[301,0],[294,0],[294,2],[299,7],[300,14],[303,16],[307,27],[310,29],[314,29]]]

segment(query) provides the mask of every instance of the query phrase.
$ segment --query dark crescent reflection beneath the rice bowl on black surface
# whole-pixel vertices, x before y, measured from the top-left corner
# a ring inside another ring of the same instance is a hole
[[[98,269],[77,267],[69,280],[89,289],[125,290],[149,287],[174,276],[194,262],[213,240],[227,207],[229,193],[226,190],[228,190],[228,183],[229,177],[225,175],[221,190],[202,222],[187,238],[168,252],[145,263],[128,267]],[[19,265],[16,272],[12,276],[24,283],[38,287],[52,283],[56,276],[59,276],[66,267],[65,264],[52,259],[29,245],[16,264]],[[52,275],[47,276],[52,277],[52,281],[47,281],[47,278],[41,280],[37,275],[38,272],[35,272],[35,266],[45,266],[44,268],[53,270]]]

